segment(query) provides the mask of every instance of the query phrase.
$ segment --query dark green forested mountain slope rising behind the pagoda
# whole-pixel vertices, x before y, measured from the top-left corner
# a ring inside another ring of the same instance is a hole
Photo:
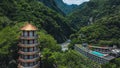
[[[31,21],[39,28],[51,34],[58,42],[63,42],[71,33],[66,19],[57,12],[45,7],[37,0],[1,0],[1,28],[14,22]]]

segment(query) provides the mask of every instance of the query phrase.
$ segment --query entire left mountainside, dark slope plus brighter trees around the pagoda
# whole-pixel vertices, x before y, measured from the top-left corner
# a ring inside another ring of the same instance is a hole
[[[17,68],[19,29],[25,22],[38,27],[40,50],[52,53],[72,32],[62,15],[38,0],[0,0],[0,68]]]

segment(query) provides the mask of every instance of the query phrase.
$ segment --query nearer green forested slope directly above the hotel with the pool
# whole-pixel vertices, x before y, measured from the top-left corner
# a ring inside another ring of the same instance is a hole
[[[88,43],[95,43],[105,46],[117,45],[120,47],[119,20],[119,15],[103,17],[102,19],[96,21],[96,23],[81,28],[78,33],[84,35],[81,39],[85,39]]]

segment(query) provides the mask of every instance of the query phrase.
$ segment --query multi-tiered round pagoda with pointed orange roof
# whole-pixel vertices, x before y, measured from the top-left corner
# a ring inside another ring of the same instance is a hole
[[[39,68],[39,48],[37,41],[37,28],[26,24],[21,29],[19,46],[18,68]]]

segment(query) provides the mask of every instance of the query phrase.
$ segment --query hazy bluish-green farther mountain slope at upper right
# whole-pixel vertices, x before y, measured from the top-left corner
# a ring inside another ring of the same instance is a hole
[[[81,4],[68,18],[71,26],[79,29],[104,16],[116,13],[119,13],[119,0],[90,0]]]

